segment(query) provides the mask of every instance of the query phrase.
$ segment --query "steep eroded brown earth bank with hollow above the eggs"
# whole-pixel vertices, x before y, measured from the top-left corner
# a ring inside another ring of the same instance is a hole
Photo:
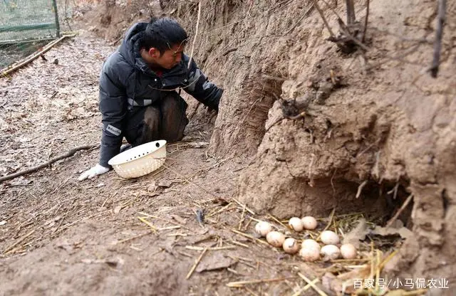
[[[130,23],[153,14],[177,18],[194,37],[197,2],[118,2],[103,1],[86,13],[97,16],[91,31],[118,41]],[[336,14],[346,14],[339,2],[321,7],[334,32]],[[155,10],[129,11],[135,4]],[[456,6],[447,9],[435,79],[428,73],[434,3],[373,1],[363,46],[344,53],[326,40],[330,33],[311,3],[202,1],[195,60],[224,88],[210,137],[209,154],[218,157],[211,167],[229,158],[244,164],[236,169],[239,201],[278,218],[336,208],[385,223],[413,195],[399,218],[415,237],[405,240],[388,271],[445,277],[453,285]],[[356,14],[362,26],[364,3],[356,1]],[[196,103],[189,110],[195,130],[212,125]],[[227,194],[236,193],[225,185]]]

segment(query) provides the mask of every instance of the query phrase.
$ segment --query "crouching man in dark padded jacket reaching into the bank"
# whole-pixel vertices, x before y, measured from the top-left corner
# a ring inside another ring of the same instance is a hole
[[[152,18],[128,30],[100,74],[100,161],[84,171],[80,181],[110,170],[108,161],[119,154],[123,137],[130,147],[157,139],[180,141],[188,119],[178,88],[219,110],[223,90],[209,82],[193,60],[188,68],[186,43],[187,32],[171,18]]]

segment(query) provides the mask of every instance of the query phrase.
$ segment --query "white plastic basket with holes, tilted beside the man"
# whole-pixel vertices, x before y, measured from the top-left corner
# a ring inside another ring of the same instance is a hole
[[[128,149],[110,159],[108,164],[119,176],[130,179],[150,174],[162,166],[165,159],[166,141],[160,139]]]

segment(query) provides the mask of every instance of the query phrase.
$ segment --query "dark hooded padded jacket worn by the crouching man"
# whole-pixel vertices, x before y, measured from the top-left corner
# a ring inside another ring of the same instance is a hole
[[[218,110],[223,90],[209,82],[192,60],[182,61],[161,77],[150,70],[140,56],[140,42],[147,23],[137,23],[125,34],[122,45],[105,61],[100,73],[100,112],[103,115],[100,165],[120,151],[128,112],[137,106],[153,105],[164,96],[164,90],[182,88],[204,105]]]

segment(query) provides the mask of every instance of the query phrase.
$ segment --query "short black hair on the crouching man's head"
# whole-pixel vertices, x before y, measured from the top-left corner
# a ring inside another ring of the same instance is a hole
[[[187,32],[174,19],[152,17],[142,36],[141,47],[147,51],[157,48],[163,54],[176,44],[185,45],[187,38]]]

